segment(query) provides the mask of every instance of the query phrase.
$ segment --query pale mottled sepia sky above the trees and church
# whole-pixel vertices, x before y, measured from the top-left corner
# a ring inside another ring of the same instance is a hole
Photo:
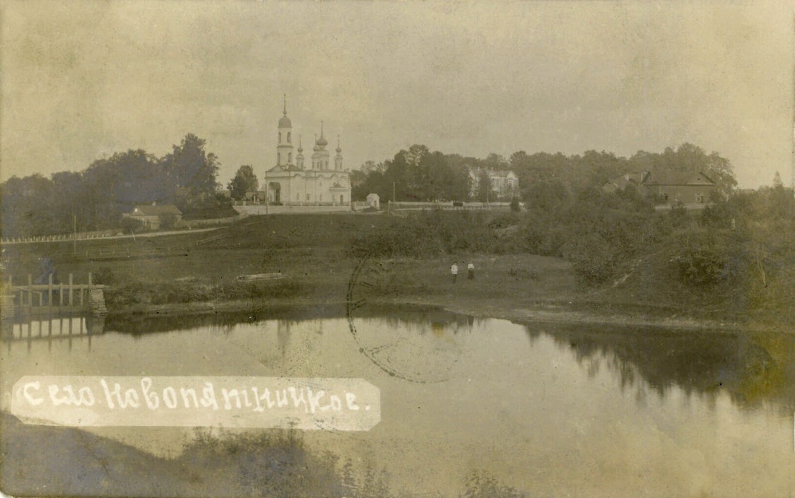
[[[2,6],[0,179],[207,140],[224,183],[304,148],[717,151],[741,187],[793,176],[793,4],[37,2]],[[332,147],[333,148],[333,147]]]

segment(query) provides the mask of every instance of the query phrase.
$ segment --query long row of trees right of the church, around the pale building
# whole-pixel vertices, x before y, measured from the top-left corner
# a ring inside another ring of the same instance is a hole
[[[582,155],[562,152],[528,154],[520,150],[506,159],[491,153],[485,159],[460,154],[431,152],[425,145],[413,145],[380,164],[368,161],[351,172],[353,198],[366,199],[374,192],[382,199],[397,201],[483,200],[494,186],[482,174],[472,178],[471,170],[511,170],[519,180],[518,198],[528,202],[536,195],[560,190],[580,191],[599,186],[627,172],[651,172],[657,178],[704,172],[726,197],[737,186],[729,160],[718,152],[707,153],[697,145],[682,144],[663,152],[638,151],[629,158],[613,152],[589,150]],[[502,199],[510,200],[510,199]]]

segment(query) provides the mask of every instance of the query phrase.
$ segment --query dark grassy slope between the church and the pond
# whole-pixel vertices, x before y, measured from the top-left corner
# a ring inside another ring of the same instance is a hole
[[[35,278],[45,258],[60,280],[74,272],[76,281],[84,282],[92,272],[95,282],[110,286],[111,314],[341,304],[359,262],[348,253],[353,238],[400,222],[380,214],[251,216],[200,234],[80,241],[76,251],[72,242],[13,245],[4,248],[3,264],[6,278],[13,275],[17,281],[28,272]],[[157,257],[127,258],[128,252]],[[100,253],[105,256],[92,256]],[[737,296],[661,284],[676,280],[661,273],[669,271],[668,257],[665,250],[650,253],[626,280],[590,289],[578,288],[571,265],[555,257],[460,251],[455,256],[380,258],[370,264],[380,264],[382,281],[366,295],[372,302],[423,303],[514,319],[741,321],[741,308],[732,304]],[[456,284],[449,271],[454,261],[460,268]],[[475,280],[466,278],[470,261]],[[285,278],[237,280],[266,272],[281,272]]]

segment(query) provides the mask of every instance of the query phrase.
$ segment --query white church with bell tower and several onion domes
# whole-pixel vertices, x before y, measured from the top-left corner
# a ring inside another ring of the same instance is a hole
[[[266,170],[262,183],[268,203],[284,206],[349,206],[351,179],[348,170],[343,167],[339,136],[333,157],[326,149],[328,141],[324,137],[322,122],[320,138],[316,139],[312,155],[308,158],[304,157],[301,137],[298,138],[298,149],[293,150],[293,138],[293,123],[287,117],[285,100],[284,114],[278,124],[276,165]]]

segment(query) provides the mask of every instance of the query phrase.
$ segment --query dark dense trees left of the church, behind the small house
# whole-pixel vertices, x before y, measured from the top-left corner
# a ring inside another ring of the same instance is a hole
[[[82,172],[12,176],[0,184],[0,230],[24,237],[117,228],[142,203],[173,203],[184,218],[229,215],[230,203],[216,193],[219,166],[205,141],[188,133],[161,157],[130,149]]]

